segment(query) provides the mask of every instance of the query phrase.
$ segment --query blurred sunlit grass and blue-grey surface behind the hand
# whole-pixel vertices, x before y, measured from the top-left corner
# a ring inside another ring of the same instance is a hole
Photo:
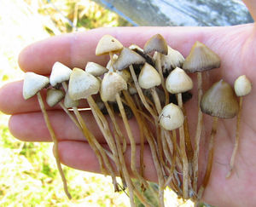
[[[224,26],[252,21],[241,1],[235,0],[207,5],[199,0],[0,0],[0,87],[23,77],[17,64],[21,49],[61,33],[100,26]],[[130,206],[125,193],[113,193],[108,176],[63,167],[73,196],[68,200],[52,144],[15,140],[8,120],[0,112],[0,206]],[[193,204],[184,204],[167,189],[166,206]]]

